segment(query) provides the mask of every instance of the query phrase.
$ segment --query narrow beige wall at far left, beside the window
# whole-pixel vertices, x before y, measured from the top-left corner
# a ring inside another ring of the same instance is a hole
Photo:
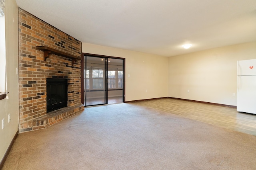
[[[14,135],[18,131],[18,7],[15,0],[5,1],[6,68],[9,99],[0,100],[0,120],[5,119],[5,127],[0,128],[0,160],[4,157]],[[8,123],[8,114],[11,121]]]

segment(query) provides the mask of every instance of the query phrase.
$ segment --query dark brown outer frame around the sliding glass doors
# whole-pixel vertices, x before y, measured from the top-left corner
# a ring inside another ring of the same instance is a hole
[[[84,61],[84,56],[88,56],[88,57],[102,57],[102,58],[109,58],[109,59],[121,59],[123,60],[123,103],[125,102],[125,58],[121,58],[121,57],[113,57],[113,56],[107,56],[107,55],[98,55],[98,54],[91,54],[91,53],[82,53],[82,77],[81,77],[81,82],[82,82],[82,86],[81,86],[81,92],[82,92],[82,104],[84,104],[84,95],[85,95],[85,90],[84,89],[84,67],[85,67],[85,61]],[[107,78],[107,76],[106,76]],[[106,93],[108,94],[108,92]],[[106,98],[108,98],[108,95],[106,96]]]

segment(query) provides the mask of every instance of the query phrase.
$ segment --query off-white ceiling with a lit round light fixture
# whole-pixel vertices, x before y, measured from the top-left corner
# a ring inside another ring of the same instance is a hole
[[[256,41],[256,0],[16,2],[83,43],[166,57]]]

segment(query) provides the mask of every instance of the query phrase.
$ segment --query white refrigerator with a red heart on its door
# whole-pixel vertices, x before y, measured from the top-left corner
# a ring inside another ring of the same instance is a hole
[[[237,111],[256,114],[256,59],[237,61]]]

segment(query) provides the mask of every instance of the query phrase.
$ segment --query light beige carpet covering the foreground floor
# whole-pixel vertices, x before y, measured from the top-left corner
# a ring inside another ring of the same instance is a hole
[[[255,170],[256,136],[138,104],[19,134],[3,170]]]

